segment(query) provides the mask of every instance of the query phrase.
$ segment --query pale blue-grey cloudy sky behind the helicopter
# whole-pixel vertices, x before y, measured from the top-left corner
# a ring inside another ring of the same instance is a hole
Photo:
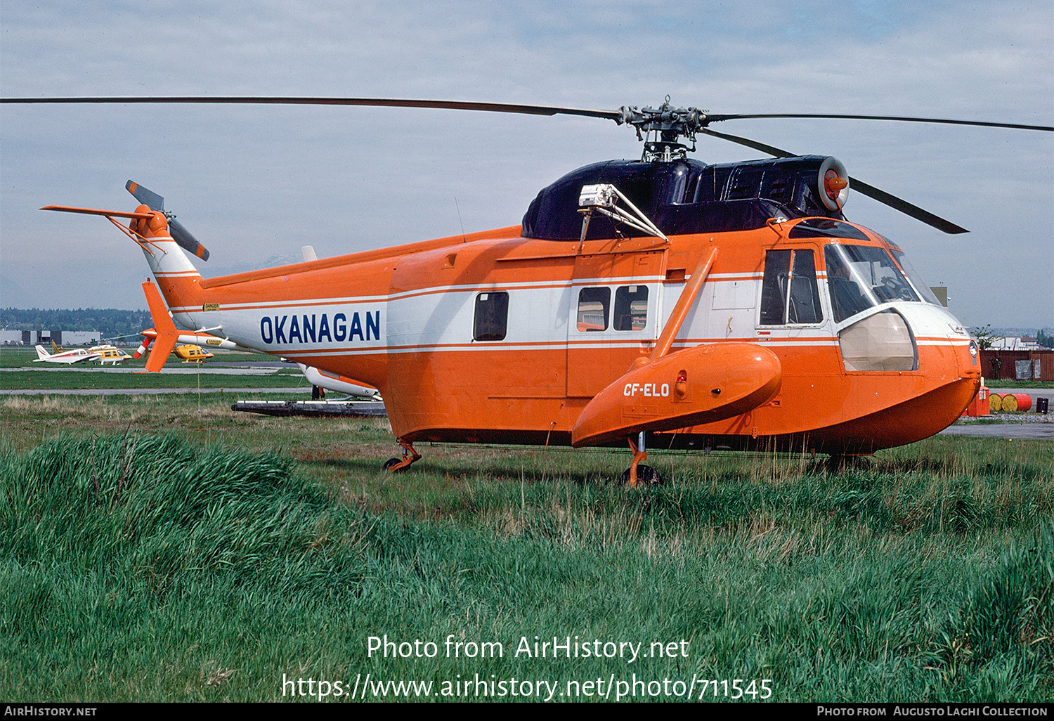
[[[0,6],[0,96],[319,95],[1054,124],[1050,0],[195,2]],[[972,327],[1054,327],[1054,133],[850,120],[716,130],[800,154],[972,232],[851,193]],[[134,179],[206,276],[518,225],[538,191],[639,157],[590,118],[374,108],[0,105],[0,307],[145,308],[104,219]],[[700,138],[694,157],[757,151]]]

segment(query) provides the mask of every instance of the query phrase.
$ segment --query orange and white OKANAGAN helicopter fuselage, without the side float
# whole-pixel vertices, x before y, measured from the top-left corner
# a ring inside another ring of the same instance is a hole
[[[513,226],[210,279],[143,249],[178,324],[375,386],[406,441],[570,444],[590,400],[651,353],[714,249],[671,353],[754,344],[778,357],[779,389],[656,432],[651,448],[870,452],[946,427],[980,383],[967,331],[900,249],[828,218],[668,242]],[[624,394],[669,392],[650,385]]]

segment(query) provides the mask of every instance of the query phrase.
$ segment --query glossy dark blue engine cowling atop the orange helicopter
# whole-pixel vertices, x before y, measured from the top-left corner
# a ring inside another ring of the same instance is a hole
[[[611,183],[666,235],[720,233],[762,228],[773,217],[822,215],[844,219],[819,200],[821,155],[747,160],[707,165],[694,159],[674,162],[607,160],[580,168],[542,189],[523,220],[525,238],[578,240],[582,236],[582,186]],[[644,235],[594,215],[588,239]]]

